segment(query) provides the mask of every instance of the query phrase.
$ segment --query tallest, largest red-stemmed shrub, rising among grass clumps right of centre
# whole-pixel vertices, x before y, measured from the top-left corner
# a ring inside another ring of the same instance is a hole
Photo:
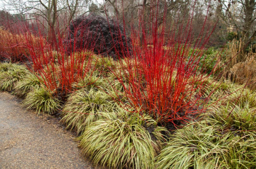
[[[166,11],[159,12],[158,1],[151,5],[150,21],[143,19],[142,12],[140,29],[132,31],[133,59],[124,59],[122,73],[113,73],[134,110],[175,129],[206,110],[208,98],[203,97],[202,88],[208,76],[200,71],[199,63],[212,31],[204,24],[199,37],[193,37],[193,11],[186,23],[167,28]]]

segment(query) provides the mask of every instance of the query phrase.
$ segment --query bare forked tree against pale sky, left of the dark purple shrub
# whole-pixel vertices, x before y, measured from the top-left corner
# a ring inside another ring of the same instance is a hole
[[[37,19],[48,30],[49,41],[54,42],[58,18],[64,14],[62,19],[65,18],[68,25],[79,8],[89,5],[89,2],[90,0],[4,0],[4,5],[12,13],[28,16],[26,19]]]

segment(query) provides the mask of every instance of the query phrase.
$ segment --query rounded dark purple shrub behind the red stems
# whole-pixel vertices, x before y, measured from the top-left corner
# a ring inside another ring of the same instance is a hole
[[[131,48],[131,40],[117,20],[95,14],[71,22],[64,44],[68,53],[89,49],[113,58],[126,57]]]

